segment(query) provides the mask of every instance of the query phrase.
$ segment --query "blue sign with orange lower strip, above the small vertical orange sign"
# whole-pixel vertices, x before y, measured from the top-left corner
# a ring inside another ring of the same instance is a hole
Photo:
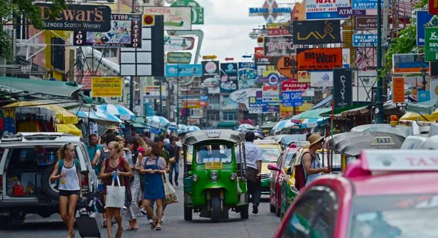
[[[424,61],[424,54],[393,54],[392,72],[394,74],[420,74],[429,71],[429,63]]]

